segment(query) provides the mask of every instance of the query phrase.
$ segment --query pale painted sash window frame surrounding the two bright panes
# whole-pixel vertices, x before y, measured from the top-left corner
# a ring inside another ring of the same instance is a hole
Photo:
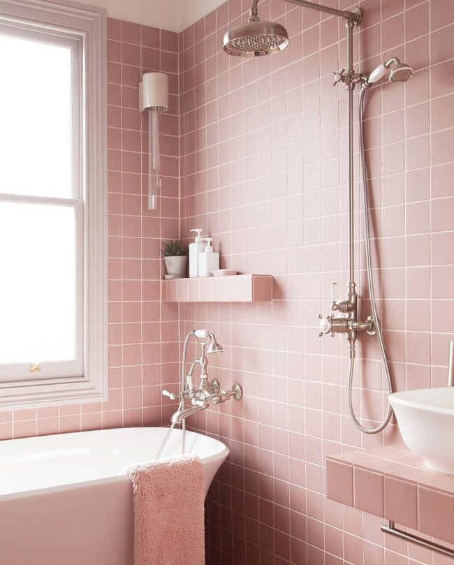
[[[1,194],[0,200],[75,210],[76,323],[82,328],[77,362],[43,363],[33,379],[24,379],[17,365],[10,366],[5,379],[3,366],[0,410],[99,402],[107,399],[108,390],[106,13],[58,1],[0,0],[0,33],[66,45],[78,63],[73,65],[73,91],[80,94],[73,115],[80,124],[73,137],[73,198]]]

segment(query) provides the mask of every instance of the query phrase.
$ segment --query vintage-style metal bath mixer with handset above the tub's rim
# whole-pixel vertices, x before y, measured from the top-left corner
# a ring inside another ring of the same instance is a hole
[[[189,372],[186,374],[186,353],[191,337],[195,337],[196,342],[200,345],[201,354],[200,358],[193,360],[191,367],[189,367]],[[193,414],[206,410],[209,406],[215,406],[216,404],[221,404],[233,398],[235,400],[240,400],[243,395],[242,388],[239,384],[233,385],[231,390],[221,390],[219,386],[219,381],[213,379],[208,380],[207,367],[208,358],[207,355],[212,353],[222,353],[223,348],[221,344],[217,342],[216,337],[213,332],[208,330],[191,330],[186,335],[183,345],[182,353],[182,365],[181,365],[181,379],[180,379],[180,392],[168,392],[168,390],[163,390],[163,396],[167,396],[170,400],[180,399],[180,404],[175,413],[173,413],[172,418],[170,418],[171,425],[168,430],[164,441],[159,448],[156,458],[161,456],[166,442],[170,438],[173,428],[176,424],[182,425],[182,453],[185,452],[185,430],[186,430],[186,418],[192,416]],[[193,385],[193,372],[196,367],[200,367],[200,383],[198,386]],[[184,406],[185,401],[190,401],[191,406]]]

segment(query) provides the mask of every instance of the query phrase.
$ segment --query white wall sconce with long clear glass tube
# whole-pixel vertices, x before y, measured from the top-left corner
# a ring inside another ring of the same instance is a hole
[[[168,75],[145,73],[139,84],[140,112],[148,112],[148,210],[157,210],[161,191],[159,133],[161,114],[168,110]]]

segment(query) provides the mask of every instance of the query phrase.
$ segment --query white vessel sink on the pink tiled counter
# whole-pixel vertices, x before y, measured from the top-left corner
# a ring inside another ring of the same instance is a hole
[[[395,392],[390,403],[407,447],[430,469],[454,474],[454,387]]]

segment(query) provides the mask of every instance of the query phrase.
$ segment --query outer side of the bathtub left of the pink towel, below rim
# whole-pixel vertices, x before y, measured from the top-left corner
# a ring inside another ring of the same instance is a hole
[[[1,565],[133,564],[129,480],[2,501]]]

